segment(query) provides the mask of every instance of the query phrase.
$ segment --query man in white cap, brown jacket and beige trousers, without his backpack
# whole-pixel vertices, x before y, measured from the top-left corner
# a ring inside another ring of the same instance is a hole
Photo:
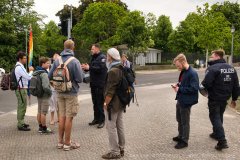
[[[104,159],[118,159],[124,156],[125,135],[123,127],[124,106],[121,104],[116,90],[122,79],[123,72],[120,69],[121,57],[115,48],[107,51],[109,62],[107,80],[104,86],[104,111],[110,151],[103,155]]]

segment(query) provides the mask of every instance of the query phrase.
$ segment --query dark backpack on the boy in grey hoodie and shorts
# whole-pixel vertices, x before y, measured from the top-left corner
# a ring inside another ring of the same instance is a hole
[[[45,71],[39,71],[36,75],[33,75],[30,80],[29,92],[31,95],[41,98],[44,94],[42,87],[42,79],[40,75]]]

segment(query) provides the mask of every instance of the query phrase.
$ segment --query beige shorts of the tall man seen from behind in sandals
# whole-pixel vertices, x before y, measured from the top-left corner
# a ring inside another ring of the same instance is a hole
[[[57,95],[59,116],[75,117],[79,110],[78,97],[72,95]]]

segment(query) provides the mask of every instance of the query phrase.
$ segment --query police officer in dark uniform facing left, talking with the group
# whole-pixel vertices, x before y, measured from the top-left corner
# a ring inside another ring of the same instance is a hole
[[[90,64],[82,65],[83,70],[90,72],[94,119],[89,125],[98,124],[98,128],[103,128],[105,124],[103,88],[107,75],[106,56],[100,51],[99,44],[93,44],[91,52],[92,59]]]

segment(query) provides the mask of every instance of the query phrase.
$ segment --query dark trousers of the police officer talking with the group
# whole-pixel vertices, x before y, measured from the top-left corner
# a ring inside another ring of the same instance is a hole
[[[98,123],[102,123],[105,121],[105,115],[103,110],[104,103],[103,88],[91,87],[91,94],[93,102],[94,119],[97,120]]]

